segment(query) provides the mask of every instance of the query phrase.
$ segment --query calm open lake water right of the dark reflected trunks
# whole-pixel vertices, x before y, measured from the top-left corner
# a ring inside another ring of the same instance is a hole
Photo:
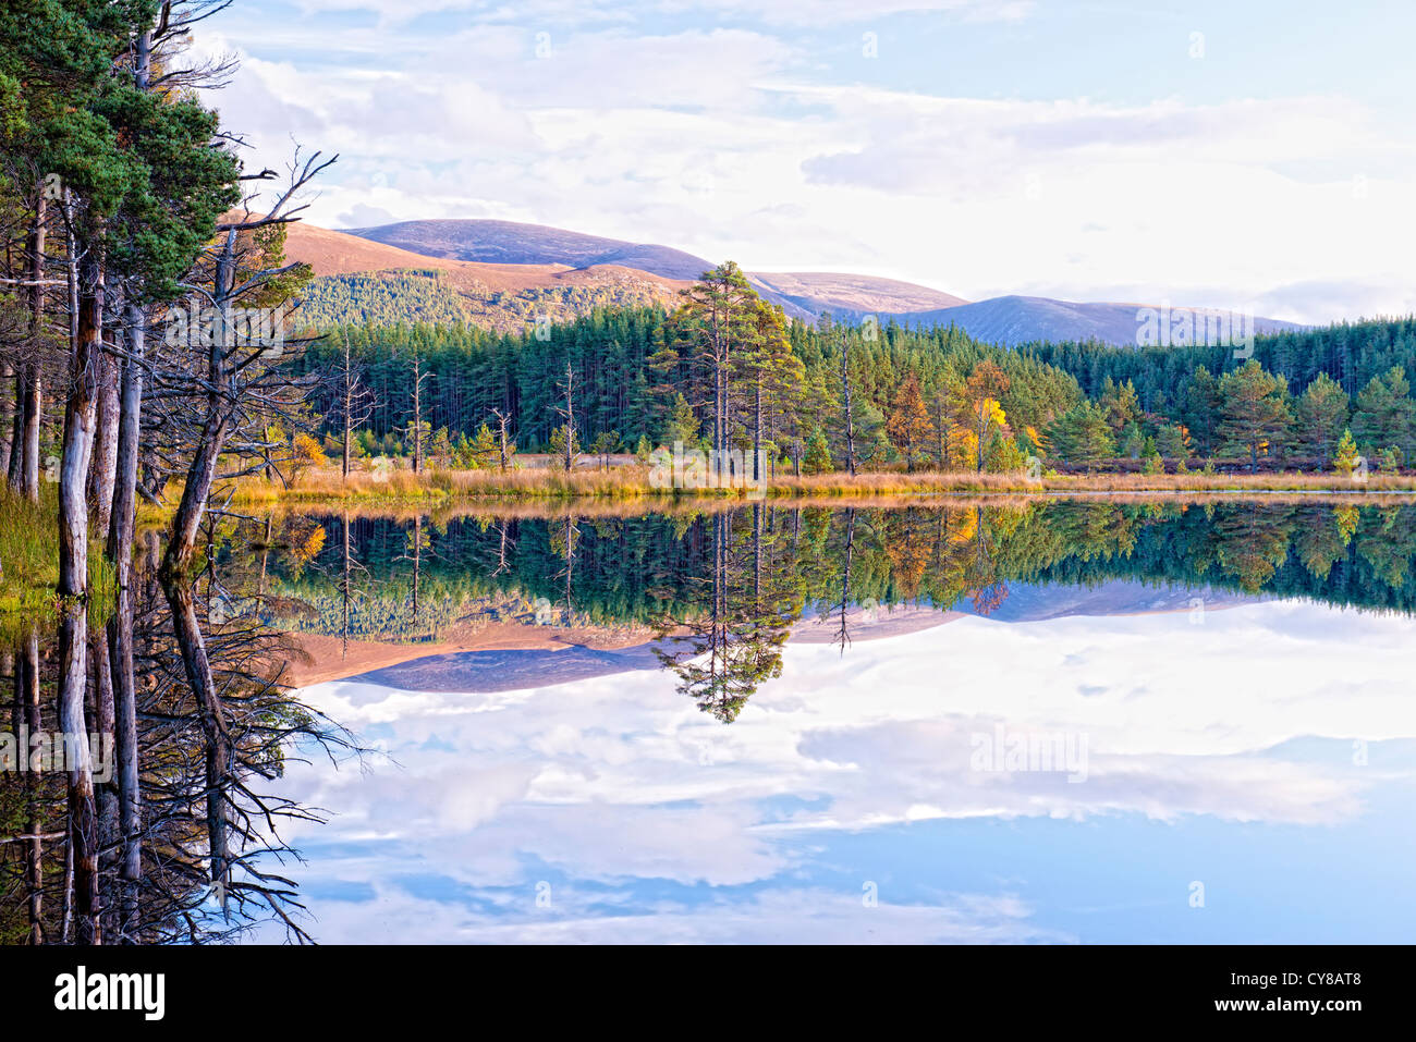
[[[589,644],[303,692],[377,750],[282,779],[333,813],[286,834],[310,932],[1409,940],[1413,520],[286,518],[269,569],[303,606],[286,626],[432,641],[521,623]]]

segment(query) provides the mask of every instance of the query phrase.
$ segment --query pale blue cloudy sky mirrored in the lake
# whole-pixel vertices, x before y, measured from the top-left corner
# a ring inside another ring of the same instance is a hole
[[[789,641],[725,726],[661,671],[479,692],[470,653],[304,689],[378,753],[290,762],[333,817],[283,834],[326,943],[1400,941],[1413,654],[1296,602],[963,617]],[[991,770],[1000,729],[1080,769]]]

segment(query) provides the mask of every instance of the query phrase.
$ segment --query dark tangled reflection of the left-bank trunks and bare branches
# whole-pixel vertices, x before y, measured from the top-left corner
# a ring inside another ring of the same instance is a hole
[[[4,941],[207,943],[258,922],[309,939],[280,827],[320,815],[275,782],[297,738],[351,746],[282,687],[287,648],[252,610],[259,589],[159,561],[149,534],[110,605],[61,605],[57,631],[11,623]]]

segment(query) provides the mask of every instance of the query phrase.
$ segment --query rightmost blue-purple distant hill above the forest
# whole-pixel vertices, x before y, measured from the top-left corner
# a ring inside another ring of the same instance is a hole
[[[1100,340],[1106,344],[1134,347],[1140,321],[1138,309],[1147,304],[1083,304],[1051,297],[993,297],[974,304],[959,304],[929,311],[895,314],[902,326],[949,326],[964,330],[974,340],[1017,347],[1034,340],[1054,343],[1068,340]],[[1202,323],[1206,314],[1222,314],[1215,309],[1174,307],[1171,313],[1189,313],[1192,321]],[[881,316],[885,320],[885,316]],[[1279,319],[1253,320],[1255,333],[1301,330],[1291,321]],[[1202,327],[1202,326],[1201,326]]]

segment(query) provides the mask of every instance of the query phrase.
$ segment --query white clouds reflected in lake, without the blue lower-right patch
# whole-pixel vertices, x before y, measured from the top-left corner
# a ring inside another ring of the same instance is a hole
[[[287,783],[337,811],[296,838],[312,875],[346,881],[323,899],[312,879],[326,940],[1055,940],[1004,881],[967,906],[920,900],[942,879],[926,847],[943,840],[925,837],[970,820],[1351,825],[1412,777],[1351,755],[1354,738],[1416,736],[1412,665],[1403,619],[1274,602],[1202,626],[966,617],[844,657],[789,644],[728,728],[663,672],[462,694],[333,682],[306,698],[401,766],[313,763]],[[995,726],[1086,735],[1086,780],[973,769],[971,736]],[[970,859],[987,851],[949,869]],[[429,869],[436,902],[398,882]],[[871,879],[908,881],[915,903],[864,915]],[[554,916],[523,908],[538,883]]]

